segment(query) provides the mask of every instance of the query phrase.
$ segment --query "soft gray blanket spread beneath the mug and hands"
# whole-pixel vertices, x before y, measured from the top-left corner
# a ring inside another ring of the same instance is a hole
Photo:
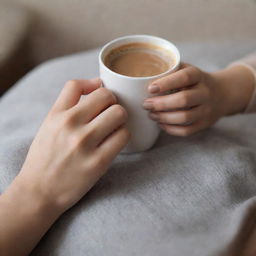
[[[183,60],[213,71],[255,49],[255,42],[178,47]],[[2,97],[0,191],[19,172],[65,81],[97,76],[97,54],[48,61]],[[161,134],[152,150],[118,156],[32,255],[242,255],[256,230],[255,126],[256,115],[237,115],[188,138]]]

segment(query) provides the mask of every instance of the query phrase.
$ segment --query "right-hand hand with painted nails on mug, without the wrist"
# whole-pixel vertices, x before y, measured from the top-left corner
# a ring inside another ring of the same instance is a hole
[[[214,124],[223,116],[222,95],[213,73],[189,64],[149,85],[153,96],[144,101],[149,117],[167,133],[188,136]]]

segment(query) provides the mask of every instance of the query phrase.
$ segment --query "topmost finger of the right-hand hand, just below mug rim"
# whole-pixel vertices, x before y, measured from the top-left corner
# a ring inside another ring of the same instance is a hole
[[[154,81],[149,87],[150,93],[162,93],[170,90],[181,89],[198,83],[201,71],[194,66],[185,66],[168,76]]]

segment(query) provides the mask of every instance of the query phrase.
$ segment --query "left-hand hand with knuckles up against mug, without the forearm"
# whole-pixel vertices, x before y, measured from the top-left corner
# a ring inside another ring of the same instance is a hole
[[[129,139],[125,109],[100,79],[66,83],[41,125],[16,182],[59,211],[74,205]],[[82,94],[89,94],[80,100]]]

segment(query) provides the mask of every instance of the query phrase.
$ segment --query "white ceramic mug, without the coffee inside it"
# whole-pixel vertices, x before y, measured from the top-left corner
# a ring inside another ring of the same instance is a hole
[[[166,72],[150,77],[130,77],[111,71],[104,64],[104,58],[113,49],[128,43],[150,43],[169,50],[175,57],[176,63]],[[118,98],[118,102],[128,112],[127,128],[131,132],[128,145],[123,153],[135,153],[145,151],[156,142],[160,128],[156,122],[148,117],[148,111],[142,108],[143,101],[152,96],[147,88],[149,84],[163,76],[166,76],[179,68],[180,53],[171,42],[150,35],[130,35],[117,38],[107,43],[99,54],[100,78],[104,87],[111,90]]]

